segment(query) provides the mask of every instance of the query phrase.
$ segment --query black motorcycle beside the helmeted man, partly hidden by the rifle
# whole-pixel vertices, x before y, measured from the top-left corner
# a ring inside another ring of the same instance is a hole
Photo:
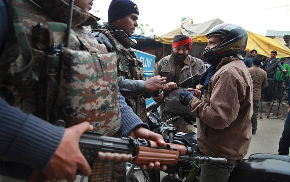
[[[194,132],[176,132],[169,123],[181,116],[168,116],[161,119],[156,109],[149,115],[149,126],[152,131],[163,135],[165,142],[197,147],[197,134]],[[168,120],[166,120],[169,118]],[[163,120],[166,120],[163,122]],[[165,134],[167,132],[167,134]],[[197,150],[197,153],[200,151]],[[200,161],[180,161],[175,166],[167,166],[167,173],[161,182],[198,182]],[[177,175],[176,175],[177,174]],[[177,178],[178,176],[178,178]],[[194,177],[194,179],[193,179]],[[152,180],[151,180],[152,181]],[[154,181],[154,180],[153,180]],[[157,180],[156,180],[157,181]],[[290,156],[256,153],[249,159],[242,159],[233,169],[228,182],[286,182],[290,181]],[[159,182],[159,181],[158,181]]]

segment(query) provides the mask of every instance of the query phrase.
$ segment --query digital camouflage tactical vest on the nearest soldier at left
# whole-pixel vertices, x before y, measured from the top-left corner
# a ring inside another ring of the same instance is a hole
[[[41,3],[51,6],[42,6],[44,10],[68,14],[64,1]],[[49,122],[61,118],[69,127],[88,121],[95,131],[115,134],[121,126],[116,54],[108,53],[83,26],[74,27],[69,48],[61,48],[66,24],[52,21],[44,10],[28,0],[12,0],[14,28],[0,59],[1,96]],[[79,10],[74,8],[73,20],[96,22]]]

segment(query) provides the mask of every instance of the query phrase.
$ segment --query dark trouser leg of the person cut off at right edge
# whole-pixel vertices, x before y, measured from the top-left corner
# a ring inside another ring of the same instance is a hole
[[[290,113],[288,113],[287,119],[284,124],[284,130],[279,142],[279,155],[289,155],[290,147]]]

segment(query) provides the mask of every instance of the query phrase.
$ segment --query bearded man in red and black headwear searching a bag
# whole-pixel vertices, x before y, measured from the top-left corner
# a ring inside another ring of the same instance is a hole
[[[177,87],[177,83],[195,75],[196,73],[202,74],[206,71],[206,67],[202,60],[189,55],[191,51],[192,38],[186,35],[175,35],[172,42],[172,54],[163,57],[155,66],[152,76],[160,75],[166,77],[166,85],[164,91],[168,92]],[[189,88],[195,88],[191,83]],[[177,108],[178,109],[178,108]],[[168,115],[162,114],[162,118]],[[177,118],[177,127],[179,131],[190,133],[196,132],[193,125],[187,124],[182,117]]]

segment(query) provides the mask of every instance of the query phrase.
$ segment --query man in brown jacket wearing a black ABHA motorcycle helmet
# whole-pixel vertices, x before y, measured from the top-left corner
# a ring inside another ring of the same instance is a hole
[[[202,54],[211,67],[200,79],[202,90],[179,92],[183,105],[191,106],[197,120],[197,143],[204,155],[224,157],[226,164],[203,163],[200,182],[226,182],[248,152],[253,114],[253,81],[241,53],[248,34],[238,25],[223,23],[206,35],[209,43]],[[198,99],[200,98],[200,99]]]

